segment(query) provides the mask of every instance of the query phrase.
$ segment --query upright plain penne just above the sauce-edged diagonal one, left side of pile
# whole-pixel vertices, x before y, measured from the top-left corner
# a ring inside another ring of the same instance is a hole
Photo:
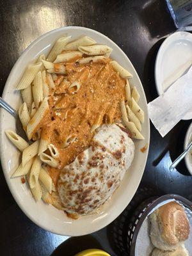
[[[44,92],[42,84],[42,72],[38,72],[32,84],[33,99],[35,107],[38,108],[39,104],[43,101]]]

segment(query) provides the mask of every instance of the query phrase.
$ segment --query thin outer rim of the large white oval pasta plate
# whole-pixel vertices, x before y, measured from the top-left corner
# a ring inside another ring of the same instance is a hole
[[[6,83],[4,85],[4,90],[3,90],[3,95],[2,97],[4,98],[4,96],[6,95],[6,93],[8,92],[8,84],[10,83],[10,79],[12,77],[12,74],[15,70],[15,68],[17,67],[17,63],[19,63],[20,59],[21,58],[24,58],[26,52],[29,51],[29,49],[31,49],[35,44],[38,44],[38,42],[40,40],[42,40],[45,36],[48,36],[48,35],[51,35],[51,34],[54,34],[56,31],[63,31],[63,33],[67,33],[67,30],[68,29],[83,29],[84,33],[86,33],[86,31],[92,31],[93,33],[96,33],[97,35],[99,36],[104,36],[107,40],[109,40],[113,45],[115,45],[118,50],[121,52],[122,55],[124,55],[124,57],[127,59],[127,61],[129,62],[129,64],[132,66],[132,68],[134,69],[134,72],[137,76],[137,79],[138,81],[140,82],[141,84],[141,90],[142,90],[142,93],[143,93],[143,96],[144,96],[144,101],[146,103],[146,109],[147,109],[147,98],[146,98],[146,95],[145,95],[145,91],[144,91],[144,88],[143,88],[143,84],[141,83],[141,80],[140,80],[140,77],[138,76],[138,73],[136,72],[134,66],[132,65],[132,62],[131,60],[129,60],[129,58],[127,57],[127,55],[125,54],[124,51],[122,51],[122,49],[117,45],[115,44],[115,42],[113,42],[113,40],[111,40],[110,38],[108,38],[108,36],[100,33],[99,31],[96,31],[94,29],[90,29],[90,28],[84,28],[84,27],[81,27],[81,26],[63,26],[63,27],[60,27],[60,28],[56,28],[56,29],[52,29],[51,31],[48,31],[47,33],[44,33],[43,35],[39,36],[38,38],[36,38],[33,42],[31,42],[31,44],[29,44],[29,46],[24,50],[22,51],[22,53],[20,54],[19,58],[17,59],[17,61],[15,62],[15,64],[13,65],[12,67],[12,70],[10,71],[10,74],[8,76],[8,79],[6,80]],[[0,140],[2,141],[2,133],[4,132],[3,129],[2,129],[2,125],[1,125],[1,120],[3,118],[3,109],[0,108]],[[146,122],[146,125],[147,125],[147,137],[148,137],[148,140],[145,139],[145,142],[148,143],[148,147],[147,147],[147,150],[145,152],[146,154],[146,157],[145,157],[145,161],[143,162],[143,168],[142,168],[142,172],[141,172],[141,175],[140,175],[140,179],[138,180],[138,185],[136,185],[136,188],[135,188],[135,192],[134,194],[136,193],[136,190],[138,189],[138,186],[140,185],[140,182],[141,182],[141,179],[143,177],[143,173],[145,172],[145,167],[146,167],[146,163],[147,163],[147,159],[148,159],[148,150],[149,150],[149,145],[150,145],[150,121],[149,121],[149,118],[148,118],[148,109],[147,109],[147,113],[145,114],[147,116],[145,122]],[[58,235],[61,235],[61,236],[83,236],[84,234],[90,234],[90,232],[81,232],[80,233],[77,233],[77,234],[64,234],[64,233],[61,233],[61,232],[56,232],[55,230],[52,230],[51,228],[47,227],[46,225],[40,223],[39,221],[36,221],[33,216],[31,216],[30,212],[26,211],[25,207],[24,207],[24,204],[21,203],[21,201],[19,200],[19,198],[17,198],[17,196],[15,195],[15,192],[13,191],[13,188],[12,188],[12,184],[10,182],[10,177],[8,177],[7,173],[5,172],[5,170],[7,169],[6,167],[6,163],[4,161],[4,157],[3,157],[3,150],[2,150],[2,145],[0,145],[0,157],[1,157],[1,165],[2,165],[2,169],[3,169],[3,173],[4,173],[4,177],[6,179],[6,183],[8,185],[8,188],[10,189],[10,192],[12,193],[12,196],[15,200],[15,202],[17,202],[17,205],[19,205],[20,209],[22,212],[24,212],[24,214],[26,214],[26,216],[31,220],[33,221],[36,225],[38,225],[38,227],[41,227],[41,228],[44,228],[44,230],[47,230],[49,232],[52,232],[54,234],[58,234]],[[134,196],[134,194],[132,195],[132,197]],[[132,200],[132,198],[131,198]],[[131,200],[129,200],[129,203],[131,202]],[[129,204],[128,203],[128,204]],[[127,207],[128,205],[126,203],[125,207]],[[124,211],[125,207],[122,207],[121,208],[121,211],[119,214],[117,214],[115,216],[115,218],[117,218],[121,213],[122,211]],[[97,227],[97,228],[94,228],[94,230],[92,232],[96,232],[97,230],[100,230],[101,228],[104,228],[106,227],[107,225],[109,225],[109,223],[111,223],[113,220],[115,220],[115,218],[111,218],[111,219],[107,219],[106,220],[106,225],[100,227],[100,225]]]

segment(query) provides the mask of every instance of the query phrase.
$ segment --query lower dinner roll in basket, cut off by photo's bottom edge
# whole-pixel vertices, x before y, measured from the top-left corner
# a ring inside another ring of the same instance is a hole
[[[189,256],[189,253],[182,244],[175,251],[162,251],[156,248],[153,250],[152,256]]]

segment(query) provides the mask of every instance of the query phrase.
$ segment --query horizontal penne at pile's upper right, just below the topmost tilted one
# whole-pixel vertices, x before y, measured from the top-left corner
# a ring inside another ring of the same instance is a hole
[[[86,55],[104,55],[109,54],[113,51],[108,45],[102,44],[79,46],[78,49]]]

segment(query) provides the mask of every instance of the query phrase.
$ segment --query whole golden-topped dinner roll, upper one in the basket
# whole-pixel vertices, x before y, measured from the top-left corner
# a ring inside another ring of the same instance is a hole
[[[189,220],[183,207],[170,202],[150,214],[150,238],[156,248],[175,250],[189,237]]]

